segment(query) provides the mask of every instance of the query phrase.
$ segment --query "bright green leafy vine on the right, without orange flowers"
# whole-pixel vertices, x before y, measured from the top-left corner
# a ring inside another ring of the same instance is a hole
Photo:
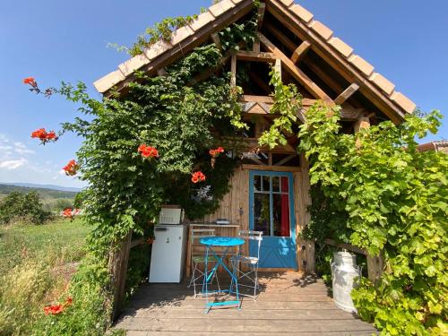
[[[359,314],[384,335],[447,331],[448,156],[419,152],[415,140],[435,133],[440,117],[435,111],[341,134],[339,108],[319,103],[300,126],[311,183],[342,214],[339,228],[334,220],[314,224],[369,254],[383,254],[380,280],[363,278],[352,297]]]

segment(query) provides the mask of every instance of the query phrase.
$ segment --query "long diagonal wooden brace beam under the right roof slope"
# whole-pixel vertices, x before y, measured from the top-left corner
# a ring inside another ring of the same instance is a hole
[[[295,65],[283,52],[278,48],[275,47],[275,45],[267,39],[263,34],[259,33],[259,39],[260,42],[264,47],[266,47],[271,53],[273,53],[275,56],[278,56],[281,59],[281,62],[283,62],[283,65],[285,65],[286,70],[293,75],[294,78],[298,82],[300,82],[306,90],[309,90],[315,98],[322,99],[327,104],[332,105],[333,101],[332,99],[321,89],[317,86],[315,82],[313,82],[303,71],[301,71],[297,65]]]

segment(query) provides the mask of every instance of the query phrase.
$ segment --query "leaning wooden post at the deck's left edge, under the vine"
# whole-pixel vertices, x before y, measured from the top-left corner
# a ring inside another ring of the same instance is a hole
[[[125,299],[127,263],[129,261],[132,237],[133,233],[129,231],[124,239],[116,243],[116,249],[109,254],[108,270],[111,275],[112,292],[114,293],[112,321],[120,314]]]

